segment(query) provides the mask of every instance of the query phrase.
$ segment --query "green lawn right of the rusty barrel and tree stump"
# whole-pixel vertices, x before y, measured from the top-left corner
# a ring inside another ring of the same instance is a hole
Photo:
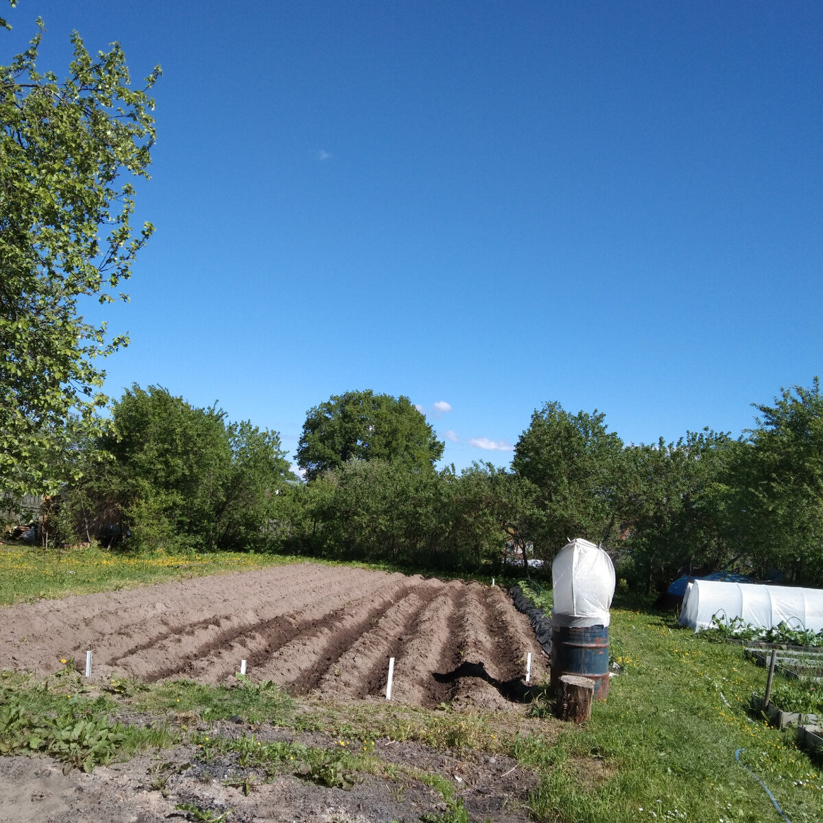
[[[654,811],[701,823],[772,820],[769,798],[735,761],[744,748],[741,760],[794,823],[823,819],[823,791],[809,788],[823,779],[797,751],[796,732],[747,718],[765,672],[739,646],[709,643],[643,611],[613,610],[610,633],[625,673],[612,678],[607,702],[550,746],[519,744],[521,761],[543,772],[533,798],[538,816],[594,823],[653,820]],[[587,761],[607,779],[592,786]]]

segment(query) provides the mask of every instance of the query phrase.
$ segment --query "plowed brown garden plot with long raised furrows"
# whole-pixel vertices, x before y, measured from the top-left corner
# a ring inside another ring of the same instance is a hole
[[[94,653],[92,677],[254,680],[293,695],[384,697],[426,707],[502,709],[548,660],[500,588],[300,564],[0,611],[0,667],[53,672]]]

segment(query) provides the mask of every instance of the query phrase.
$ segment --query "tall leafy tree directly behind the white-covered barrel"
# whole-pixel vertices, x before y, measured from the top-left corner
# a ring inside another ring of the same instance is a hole
[[[572,415],[560,403],[547,402],[532,414],[515,446],[514,471],[537,486],[540,517],[531,531],[546,560],[567,537],[593,542],[616,537],[623,443],[607,431],[604,419],[601,412]]]

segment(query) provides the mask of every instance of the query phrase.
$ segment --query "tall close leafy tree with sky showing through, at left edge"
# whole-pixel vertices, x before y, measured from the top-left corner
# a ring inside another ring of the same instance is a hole
[[[134,189],[119,176],[148,177],[160,68],[133,89],[118,44],[92,57],[75,32],[58,81],[35,68],[38,25],[0,67],[0,492],[10,495],[58,485],[53,455],[74,436],[72,415],[99,430],[97,358],[128,339],[84,319],[82,301],[123,299],[117,288],[152,231],[133,235]]]

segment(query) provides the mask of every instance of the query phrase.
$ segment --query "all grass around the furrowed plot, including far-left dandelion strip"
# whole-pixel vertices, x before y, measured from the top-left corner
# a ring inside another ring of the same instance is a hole
[[[0,559],[0,602],[293,560],[245,555],[130,560],[91,550],[56,560],[30,549],[7,550]],[[322,731],[351,742],[350,751],[360,755],[352,754],[346,769],[372,774],[383,774],[385,769],[387,779],[390,770],[363,750],[364,742],[416,740],[435,751],[503,753],[537,774],[537,788],[529,801],[537,821],[780,821],[763,788],[737,762],[735,752],[742,750],[742,763],[770,788],[790,821],[823,821],[820,766],[794,746],[795,730],[779,732],[747,714],[752,691],[763,691],[765,670],[747,661],[742,647],[709,642],[678,628],[672,616],[619,603],[611,611],[610,634],[624,672],[612,678],[609,699],[594,706],[584,727],[560,723],[542,701],[532,704],[526,716],[513,718],[463,714],[448,706],[427,710],[312,700],[297,700],[292,706],[283,695],[275,699],[275,687],[250,682],[233,689],[190,681],[145,688],[120,683],[105,700],[93,689],[86,693],[82,680],[73,674],[44,690],[42,683],[8,673],[0,686],[7,703],[29,706],[41,714],[63,716],[77,707],[78,712],[108,716],[128,707],[131,713],[171,718],[167,737],[142,740],[132,733],[118,744],[123,746],[170,745],[187,733],[195,742],[193,732],[187,732],[191,718],[212,722],[239,714],[295,733]],[[75,680],[68,688],[71,677]],[[44,700],[53,700],[55,706],[49,708]],[[3,734],[0,728],[0,751]],[[221,742],[209,735],[198,745],[205,757],[210,751],[225,755],[244,744],[236,736],[234,742]],[[277,751],[258,748],[267,752],[272,763],[277,760],[278,768],[287,768],[294,756],[283,746]],[[322,761],[321,754],[311,757]],[[449,793],[449,774],[418,779],[440,781],[444,797]],[[458,809],[452,811],[454,821],[461,819]]]

